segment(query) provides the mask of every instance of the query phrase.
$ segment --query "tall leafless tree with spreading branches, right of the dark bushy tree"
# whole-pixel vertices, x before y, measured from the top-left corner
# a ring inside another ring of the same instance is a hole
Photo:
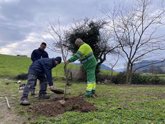
[[[164,50],[164,9],[151,10],[151,0],[137,0],[132,9],[114,10],[108,17],[112,20],[114,41],[120,44],[120,51],[127,61],[126,83],[131,83],[133,65],[154,51]]]

